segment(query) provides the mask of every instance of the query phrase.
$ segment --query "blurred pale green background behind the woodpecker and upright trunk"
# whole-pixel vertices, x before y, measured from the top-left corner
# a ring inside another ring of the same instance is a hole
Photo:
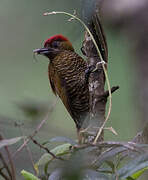
[[[0,132],[5,138],[21,135],[15,122],[23,123],[24,135],[29,135],[45,117],[56,100],[52,94],[48,76],[48,60],[44,57],[33,58],[33,49],[43,46],[45,39],[55,34],[63,34],[73,43],[80,54],[83,40],[83,28],[75,22],[68,22],[64,15],[44,17],[46,11],[80,11],[80,1],[70,0],[1,0],[0,4]],[[120,89],[113,94],[112,113],[107,126],[112,126],[118,136],[105,131],[108,140],[130,140],[137,131],[138,112],[134,106],[134,69],[131,66],[131,54],[125,37],[105,28],[109,47],[108,73],[112,86]],[[22,110],[32,106],[39,110],[38,115]],[[49,120],[37,135],[40,142],[54,136],[76,138],[74,122],[65,110],[60,99],[49,115]],[[35,145],[33,158],[41,155]],[[16,164],[21,169],[32,171],[25,151],[16,157]],[[18,165],[19,164],[19,165]]]

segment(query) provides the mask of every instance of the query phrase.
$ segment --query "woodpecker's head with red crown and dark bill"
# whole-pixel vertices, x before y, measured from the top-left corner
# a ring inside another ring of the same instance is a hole
[[[50,37],[44,42],[44,47],[41,49],[35,49],[35,54],[40,54],[53,59],[62,51],[69,50],[74,51],[71,42],[63,35],[55,35]]]

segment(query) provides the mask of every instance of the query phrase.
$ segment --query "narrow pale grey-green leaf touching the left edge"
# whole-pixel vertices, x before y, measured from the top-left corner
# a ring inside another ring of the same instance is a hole
[[[22,138],[24,138],[24,136],[0,140],[0,149],[4,146],[9,146],[9,145],[15,144],[18,141],[20,141]]]

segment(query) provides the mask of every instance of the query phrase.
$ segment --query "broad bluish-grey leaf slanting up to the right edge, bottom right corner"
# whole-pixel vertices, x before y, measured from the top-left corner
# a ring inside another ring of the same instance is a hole
[[[148,153],[145,153],[131,160],[128,164],[126,164],[124,167],[119,169],[117,171],[117,174],[120,178],[127,178],[129,176],[135,175],[137,171],[142,170],[143,168],[147,168],[147,166],[148,166]],[[138,175],[140,175],[140,172],[136,173],[135,177],[136,176],[138,177]]]

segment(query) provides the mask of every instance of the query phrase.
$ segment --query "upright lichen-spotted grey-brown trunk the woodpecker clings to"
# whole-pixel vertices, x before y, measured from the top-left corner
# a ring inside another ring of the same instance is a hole
[[[99,142],[103,141],[103,128],[105,122],[105,107],[106,107],[106,97],[111,94],[110,85],[108,82],[108,91],[104,92],[104,85],[107,76],[107,60],[108,60],[108,51],[107,51],[107,43],[105,39],[105,35],[102,29],[102,25],[100,23],[100,19],[95,11],[92,17],[88,22],[88,28],[92,33],[96,44],[94,43],[92,37],[88,32],[85,33],[85,39],[83,42],[83,52],[87,57],[88,67],[96,67],[99,71],[94,71],[90,74],[89,77],[89,95],[90,95],[90,121],[88,126],[92,127],[94,133],[97,134],[97,137],[89,138],[88,141]],[[105,64],[104,64],[105,63]],[[105,95],[105,96],[104,96]],[[105,98],[104,98],[105,97]],[[109,118],[111,111],[111,97],[110,97],[110,107],[109,107],[108,115],[106,121]],[[102,127],[100,128],[99,134],[97,133],[97,128],[93,127]]]

